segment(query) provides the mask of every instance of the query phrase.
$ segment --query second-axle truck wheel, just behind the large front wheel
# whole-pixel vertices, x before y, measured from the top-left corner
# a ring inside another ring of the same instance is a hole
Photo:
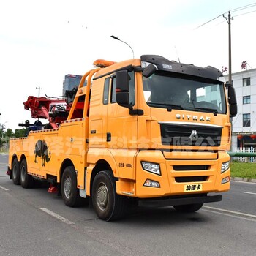
[[[75,168],[73,166],[66,167],[61,178],[61,195],[66,206],[77,207],[83,203],[77,183]]]

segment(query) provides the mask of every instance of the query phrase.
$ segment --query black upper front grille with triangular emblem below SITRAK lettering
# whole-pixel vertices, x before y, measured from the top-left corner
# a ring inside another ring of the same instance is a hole
[[[161,124],[162,145],[170,146],[219,146],[222,127]]]

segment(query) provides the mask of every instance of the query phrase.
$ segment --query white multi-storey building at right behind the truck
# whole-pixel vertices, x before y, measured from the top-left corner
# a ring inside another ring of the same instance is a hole
[[[233,73],[232,80],[238,105],[237,116],[232,118],[232,148],[256,148],[256,69]]]

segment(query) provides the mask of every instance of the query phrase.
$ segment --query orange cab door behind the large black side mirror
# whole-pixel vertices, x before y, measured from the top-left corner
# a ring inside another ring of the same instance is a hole
[[[116,102],[116,76],[110,77],[107,118],[107,147],[116,160],[119,176],[135,178],[134,160],[137,152],[138,116]],[[107,98],[107,97],[106,97]],[[136,107],[135,73],[129,72],[129,103]]]

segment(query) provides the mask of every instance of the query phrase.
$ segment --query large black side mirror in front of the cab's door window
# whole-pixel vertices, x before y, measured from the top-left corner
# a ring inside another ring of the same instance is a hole
[[[127,70],[116,72],[116,102],[122,107],[131,109],[129,105],[129,75]]]

